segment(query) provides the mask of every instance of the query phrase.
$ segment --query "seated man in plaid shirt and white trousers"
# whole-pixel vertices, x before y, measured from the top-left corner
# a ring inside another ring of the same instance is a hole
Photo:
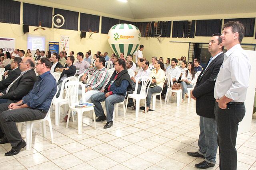
[[[107,69],[105,68],[105,62],[104,57],[97,57],[94,63],[95,66],[84,71],[84,75],[81,79],[82,81],[86,79],[88,74],[92,74],[88,82],[88,87],[85,89],[86,95],[84,102],[88,102],[93,94],[96,94],[100,92],[101,89],[104,89],[109,76]]]

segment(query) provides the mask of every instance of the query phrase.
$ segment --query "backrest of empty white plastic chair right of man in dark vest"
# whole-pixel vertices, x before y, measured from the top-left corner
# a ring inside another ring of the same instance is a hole
[[[152,78],[149,76],[140,76],[136,79],[135,84],[135,90],[134,93],[137,93],[138,90],[138,83],[141,83],[141,89],[140,89],[140,95],[147,96],[148,95],[148,89],[152,82]]]

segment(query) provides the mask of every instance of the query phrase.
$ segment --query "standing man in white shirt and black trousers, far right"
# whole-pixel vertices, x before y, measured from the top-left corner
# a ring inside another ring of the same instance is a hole
[[[220,170],[236,170],[238,123],[245,115],[244,101],[249,86],[250,62],[240,43],[244,25],[229,21],[222,28],[222,45],[228,50],[214,87]]]

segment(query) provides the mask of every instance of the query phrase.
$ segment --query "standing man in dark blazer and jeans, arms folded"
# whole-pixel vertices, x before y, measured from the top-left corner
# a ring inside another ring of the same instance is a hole
[[[198,139],[199,150],[187,153],[193,157],[205,158],[204,161],[195,164],[196,168],[202,169],[215,165],[218,149],[218,132],[214,116],[215,99],[213,92],[215,81],[224,59],[224,47],[221,44],[220,35],[219,33],[212,35],[208,46],[208,51],[212,57],[198,76],[194,90],[191,91],[191,98],[196,100],[196,113],[200,115],[200,135]]]

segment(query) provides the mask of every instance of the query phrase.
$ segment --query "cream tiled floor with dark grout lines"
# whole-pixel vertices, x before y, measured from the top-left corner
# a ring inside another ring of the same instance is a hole
[[[140,111],[139,117],[135,117],[134,111],[128,108],[125,120],[120,107],[114,126],[103,129],[106,122],[97,122],[97,130],[92,128],[92,119],[85,113],[82,135],[77,134],[76,121],[71,121],[68,129],[66,123],[53,125],[54,144],[51,144],[49,132],[45,138],[42,137],[38,124],[34,128],[30,151],[4,156],[10,150],[10,144],[0,146],[0,169],[194,170],[194,164],[202,161],[186,154],[198,149],[199,117],[194,105],[194,101],[190,104],[185,101],[176,107],[175,101],[170,100],[169,104],[163,104],[162,108],[147,115]],[[159,100],[157,106],[160,107]],[[54,113],[51,117],[54,123]],[[60,117],[62,119],[64,115]],[[24,139],[25,134],[23,125]],[[256,170],[255,146],[254,116],[251,131],[237,137],[238,170]],[[218,170],[218,164],[208,169]]]

